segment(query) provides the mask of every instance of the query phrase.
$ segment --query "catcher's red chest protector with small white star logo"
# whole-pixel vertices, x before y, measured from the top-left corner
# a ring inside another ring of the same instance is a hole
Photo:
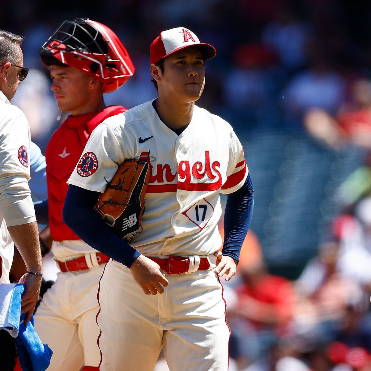
[[[55,241],[80,238],[63,223],[63,205],[68,190],[66,183],[93,129],[110,116],[127,111],[122,106],[109,106],[91,114],[68,116],[46,147],[46,180],[49,204],[50,235]]]

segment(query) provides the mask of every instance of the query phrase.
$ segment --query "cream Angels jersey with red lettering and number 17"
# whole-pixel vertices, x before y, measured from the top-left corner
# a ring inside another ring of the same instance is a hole
[[[152,102],[98,125],[67,183],[103,192],[125,159],[147,160],[143,232],[130,244],[145,254],[210,255],[221,246],[219,193],[238,190],[248,174],[242,145],[226,121],[197,106],[177,135]]]

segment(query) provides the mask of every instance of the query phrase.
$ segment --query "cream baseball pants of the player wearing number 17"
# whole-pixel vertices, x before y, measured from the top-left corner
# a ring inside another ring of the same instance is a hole
[[[165,292],[147,296],[109,260],[99,283],[99,370],[153,371],[163,346],[170,371],[227,371],[230,331],[215,267],[166,275]]]

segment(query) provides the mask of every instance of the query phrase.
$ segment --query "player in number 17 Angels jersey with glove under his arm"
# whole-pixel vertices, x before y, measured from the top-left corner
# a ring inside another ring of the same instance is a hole
[[[215,55],[186,28],[161,32],[150,48],[158,98],[99,125],[68,180],[65,222],[111,257],[98,293],[101,371],[153,370],[162,347],[171,371],[228,369],[230,331],[219,278],[236,273],[253,187],[232,127],[195,105],[204,62]],[[143,231],[130,244],[93,210],[105,178],[129,158],[151,168]],[[87,159],[90,172],[82,173]],[[217,257],[220,193],[228,200]]]

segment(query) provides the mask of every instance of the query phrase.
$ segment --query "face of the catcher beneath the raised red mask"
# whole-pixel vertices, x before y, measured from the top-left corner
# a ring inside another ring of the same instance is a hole
[[[72,115],[86,113],[91,97],[92,78],[75,67],[50,67],[53,80],[51,89],[54,92],[58,108]]]

